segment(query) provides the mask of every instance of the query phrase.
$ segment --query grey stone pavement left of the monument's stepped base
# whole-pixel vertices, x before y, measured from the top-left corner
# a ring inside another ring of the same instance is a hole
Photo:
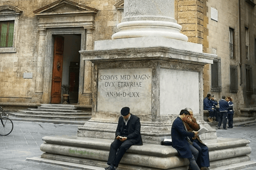
[[[78,125],[18,122],[13,121],[13,131],[7,136],[0,136],[0,170],[71,170],[49,164],[27,162],[26,158],[40,157],[42,137],[55,135],[77,135]]]

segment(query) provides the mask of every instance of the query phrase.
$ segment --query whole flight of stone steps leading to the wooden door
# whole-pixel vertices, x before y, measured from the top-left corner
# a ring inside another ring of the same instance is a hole
[[[91,118],[91,109],[79,111],[75,105],[42,104],[38,108],[28,108],[19,112],[9,112],[16,121],[52,122],[83,125]]]

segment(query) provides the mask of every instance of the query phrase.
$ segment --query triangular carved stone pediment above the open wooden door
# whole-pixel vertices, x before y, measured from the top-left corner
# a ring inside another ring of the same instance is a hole
[[[79,13],[79,12],[97,13],[98,10],[96,8],[92,8],[74,1],[59,0],[34,11],[36,15],[53,14],[53,13]]]

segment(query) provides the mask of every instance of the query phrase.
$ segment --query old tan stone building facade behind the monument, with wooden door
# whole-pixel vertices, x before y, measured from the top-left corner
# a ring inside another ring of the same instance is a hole
[[[0,103],[62,103],[66,84],[70,102],[90,106],[92,64],[80,60],[79,50],[111,39],[123,5],[122,0],[1,1]],[[175,1],[175,19],[188,41],[218,55],[204,67],[204,96],[231,96],[236,115],[256,107],[254,5],[253,0]]]

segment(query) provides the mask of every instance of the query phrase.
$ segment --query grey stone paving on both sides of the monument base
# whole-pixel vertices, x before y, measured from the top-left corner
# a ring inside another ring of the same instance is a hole
[[[43,153],[39,147],[43,143],[42,137],[49,136],[73,136],[77,135],[78,125],[52,124],[37,122],[13,121],[14,129],[6,137],[0,136],[0,170],[73,170],[74,168],[55,165],[26,162],[26,158],[40,157]],[[215,127],[214,127],[215,128]],[[217,130],[218,137],[243,138],[251,141],[250,155],[256,160],[256,122],[250,125],[235,126],[233,129]],[[246,170],[256,167],[246,168]]]

